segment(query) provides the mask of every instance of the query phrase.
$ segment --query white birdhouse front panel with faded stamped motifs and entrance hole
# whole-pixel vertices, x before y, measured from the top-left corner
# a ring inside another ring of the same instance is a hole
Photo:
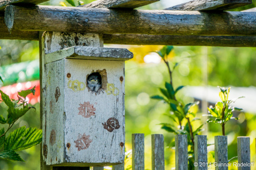
[[[65,162],[124,160],[124,62],[65,61]]]

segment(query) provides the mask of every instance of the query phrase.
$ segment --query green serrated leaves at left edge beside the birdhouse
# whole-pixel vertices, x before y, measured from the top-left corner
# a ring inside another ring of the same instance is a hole
[[[37,128],[20,127],[11,132],[8,137],[6,133],[12,128],[14,123],[27,113],[33,107],[29,107],[26,102],[26,97],[30,93],[35,94],[35,87],[29,90],[18,92],[18,100],[11,100],[7,94],[0,90],[3,102],[7,105],[8,115],[5,118],[0,114],[0,123],[8,124],[9,127],[0,130],[0,149],[4,146],[4,151],[0,152],[0,158],[14,161],[24,161],[16,153],[39,144],[42,141],[42,130]]]

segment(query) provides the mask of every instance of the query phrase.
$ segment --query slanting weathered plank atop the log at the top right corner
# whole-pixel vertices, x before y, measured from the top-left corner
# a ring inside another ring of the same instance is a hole
[[[252,4],[252,0],[194,0],[165,10],[180,11],[208,11],[208,10],[230,10]]]

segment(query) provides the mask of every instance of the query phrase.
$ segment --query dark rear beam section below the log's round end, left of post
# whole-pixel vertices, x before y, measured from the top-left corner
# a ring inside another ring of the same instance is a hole
[[[21,39],[21,40],[37,40],[37,31],[19,31],[15,30],[10,33],[5,25],[4,14],[0,14],[0,39]]]

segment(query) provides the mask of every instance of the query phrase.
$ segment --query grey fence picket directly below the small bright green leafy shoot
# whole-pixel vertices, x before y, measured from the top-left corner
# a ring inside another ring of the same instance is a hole
[[[215,136],[215,162],[216,170],[228,170],[227,136]]]

